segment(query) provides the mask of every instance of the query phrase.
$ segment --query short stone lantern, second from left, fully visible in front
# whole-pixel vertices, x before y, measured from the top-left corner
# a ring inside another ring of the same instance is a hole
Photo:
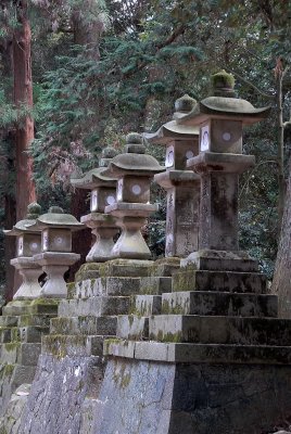
[[[37,218],[36,227],[41,230],[41,253],[35,255],[34,259],[48,275],[41,295],[66,297],[67,289],[63,276],[80,258],[80,255],[72,253],[72,232],[84,229],[85,226],[71,214],[64,214],[59,206],[51,206],[49,213]]]

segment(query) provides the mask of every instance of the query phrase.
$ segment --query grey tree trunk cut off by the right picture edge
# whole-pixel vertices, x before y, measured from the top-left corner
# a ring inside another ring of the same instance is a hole
[[[281,225],[281,237],[271,292],[279,297],[280,318],[291,318],[291,161]]]

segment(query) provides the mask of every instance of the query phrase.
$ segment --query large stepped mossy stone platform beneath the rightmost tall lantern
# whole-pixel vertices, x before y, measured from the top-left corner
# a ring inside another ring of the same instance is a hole
[[[186,267],[173,276],[172,292],[136,295],[131,315],[117,319],[117,340],[104,342],[96,432],[115,432],[124,413],[130,419],[121,432],[148,421],[141,434],[257,434],[291,416],[291,320],[278,319],[277,296],[256,267]],[[132,406],[144,372],[153,386],[140,386]]]

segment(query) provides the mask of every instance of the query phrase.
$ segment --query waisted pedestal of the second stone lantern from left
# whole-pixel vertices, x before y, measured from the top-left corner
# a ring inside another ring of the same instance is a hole
[[[68,267],[80,258],[76,253],[45,252],[34,256],[34,259],[48,275],[48,281],[41,289],[41,296],[48,298],[66,298],[67,286],[64,273]]]

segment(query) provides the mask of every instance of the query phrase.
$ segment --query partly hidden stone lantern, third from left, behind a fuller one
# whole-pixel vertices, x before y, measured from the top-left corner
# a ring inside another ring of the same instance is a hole
[[[102,151],[99,168],[88,171],[83,178],[71,179],[73,187],[77,189],[91,190],[91,213],[81,217],[81,222],[92,229],[96,242],[86,257],[87,263],[102,263],[111,259],[114,245],[113,238],[119,232],[115,218],[104,214],[105,206],[116,202],[116,178],[104,175],[111,158],[117,154],[113,148]]]

